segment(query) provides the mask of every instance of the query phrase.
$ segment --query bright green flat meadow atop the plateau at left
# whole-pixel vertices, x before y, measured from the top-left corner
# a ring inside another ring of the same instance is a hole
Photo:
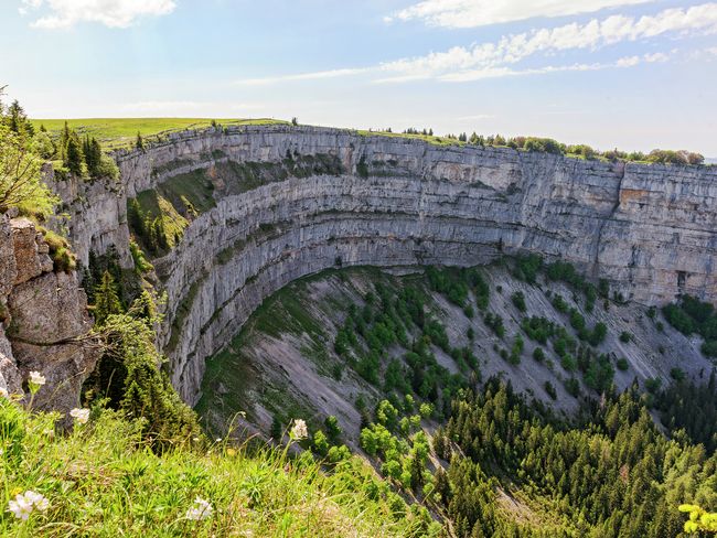
[[[106,149],[131,147],[137,132],[143,138],[185,129],[201,129],[212,125],[211,118],[86,118],[86,119],[33,119],[33,127],[44,126],[51,133],[58,133],[67,125],[83,134],[95,137]],[[242,125],[275,125],[288,121],[257,118],[257,119],[216,119],[222,126]]]

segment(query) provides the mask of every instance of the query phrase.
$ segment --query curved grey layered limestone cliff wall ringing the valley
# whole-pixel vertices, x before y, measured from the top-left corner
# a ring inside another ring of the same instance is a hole
[[[717,171],[288,126],[171,136],[117,154],[120,184],[58,185],[81,259],[116,245],[129,263],[127,198],[206,170],[216,205],[154,266],[168,292],[161,344],[196,401],[204,357],[263,299],[332,266],[475,265],[504,252],[567,259],[643,303],[717,299]],[[301,173],[307,159],[329,163]],[[223,164],[250,163],[239,181]],[[317,169],[319,170],[319,169]],[[246,177],[244,177],[246,180]],[[79,211],[82,208],[82,211]]]

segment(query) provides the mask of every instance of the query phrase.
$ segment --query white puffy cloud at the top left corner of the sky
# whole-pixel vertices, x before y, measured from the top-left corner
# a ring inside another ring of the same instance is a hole
[[[141,17],[165,15],[174,11],[174,0],[22,0],[21,14],[47,8],[34,28],[68,28],[76,22],[98,22],[109,28],[127,28]]]

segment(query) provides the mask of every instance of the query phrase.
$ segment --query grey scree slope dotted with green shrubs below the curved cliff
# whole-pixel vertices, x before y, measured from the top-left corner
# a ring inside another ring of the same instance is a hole
[[[428,276],[424,268],[350,268],[295,281],[267,299],[227,348],[207,359],[197,410],[217,431],[245,412],[267,435],[276,421],[313,417],[318,428],[335,416],[353,446],[362,424],[357,400],[371,409],[390,394],[408,392],[431,401],[434,420],[440,422],[450,412],[452,395],[429,397],[431,389],[421,392],[419,381],[411,383],[417,374],[410,352],[427,334],[441,368],[435,374],[438,392],[450,384],[473,387],[500,376],[566,417],[613,384],[623,391],[634,380],[644,389],[654,379],[667,386],[675,376],[709,377],[713,365],[699,352],[700,340],[681,334],[654,309],[606,298],[589,301],[582,290],[550,280],[545,271],[526,282],[516,276],[517,267],[515,259],[504,258],[472,270],[430,269]],[[471,286],[470,273],[480,276],[484,295]],[[465,290],[441,293],[435,275]],[[434,320],[437,332],[395,311],[414,295],[420,298],[424,323]],[[376,343],[371,329],[386,312],[398,327],[395,333],[405,336],[388,335],[385,344]],[[347,321],[362,316],[367,326],[363,333]],[[503,329],[493,329],[499,318]],[[582,323],[588,332],[602,323],[604,336],[596,337],[595,345],[591,334],[581,340]],[[355,345],[342,343],[347,329],[357,338]],[[558,337],[563,330],[565,337]],[[378,359],[372,373],[367,364],[373,352]],[[399,385],[387,381],[394,359],[400,365]]]

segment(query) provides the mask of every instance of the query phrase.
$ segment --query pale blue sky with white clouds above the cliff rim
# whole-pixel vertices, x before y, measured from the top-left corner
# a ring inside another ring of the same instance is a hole
[[[297,117],[717,157],[717,1],[0,0],[0,86],[34,118]]]

